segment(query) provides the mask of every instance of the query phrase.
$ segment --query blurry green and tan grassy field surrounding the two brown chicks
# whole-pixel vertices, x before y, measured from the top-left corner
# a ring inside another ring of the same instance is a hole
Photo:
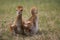
[[[30,9],[38,8],[39,31],[33,36],[12,35],[9,23],[16,17],[16,7],[24,7],[23,17],[30,17]],[[60,0],[0,0],[0,40],[60,40]]]

